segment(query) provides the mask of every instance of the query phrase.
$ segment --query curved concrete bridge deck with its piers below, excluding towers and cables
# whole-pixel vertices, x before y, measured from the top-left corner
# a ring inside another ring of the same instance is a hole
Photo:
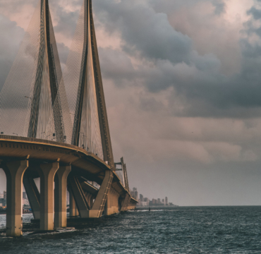
[[[41,230],[66,227],[67,190],[72,217],[98,218],[134,209],[138,202],[109,165],[74,145],[1,135],[0,163],[6,173],[7,236],[22,234],[23,186]]]

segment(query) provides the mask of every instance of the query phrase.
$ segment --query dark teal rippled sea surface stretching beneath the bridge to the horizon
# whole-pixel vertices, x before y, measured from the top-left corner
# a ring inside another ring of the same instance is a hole
[[[24,222],[31,218],[23,215]],[[0,214],[0,228],[5,219]],[[0,253],[261,253],[261,207],[139,210],[80,229],[1,234]]]

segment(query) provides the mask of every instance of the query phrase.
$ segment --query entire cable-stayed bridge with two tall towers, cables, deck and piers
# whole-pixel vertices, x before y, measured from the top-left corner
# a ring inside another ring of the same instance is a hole
[[[63,73],[49,2],[39,1],[1,90],[0,119],[7,236],[22,234],[23,186],[41,230],[66,227],[67,190],[71,217],[135,208],[126,164],[114,163],[91,0],[83,2]]]

